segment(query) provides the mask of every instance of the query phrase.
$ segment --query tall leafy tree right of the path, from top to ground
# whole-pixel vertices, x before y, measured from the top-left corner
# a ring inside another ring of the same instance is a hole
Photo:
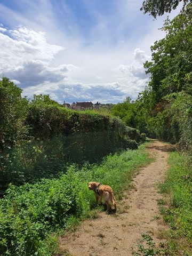
[[[156,134],[158,138],[177,142],[189,138],[189,132],[182,132],[190,131],[181,130],[173,105],[176,99],[181,103],[182,97],[191,99],[192,95],[192,3],[173,20],[167,18],[162,30],[166,36],[151,46],[151,61],[144,63],[150,81],[136,101],[136,118],[138,129],[146,125],[149,136]],[[177,116],[184,112],[179,110]]]

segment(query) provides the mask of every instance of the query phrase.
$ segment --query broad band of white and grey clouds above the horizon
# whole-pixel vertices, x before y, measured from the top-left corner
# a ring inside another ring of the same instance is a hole
[[[23,95],[29,98],[42,93],[50,94],[60,103],[64,100],[107,103],[121,102],[130,94],[132,98],[137,97],[135,86],[139,84],[139,78],[143,79],[142,62],[146,59],[145,52],[140,49],[135,49],[132,54],[126,46],[115,51],[86,51],[71,44],[71,49],[68,46],[62,51],[65,47],[48,43],[42,31],[23,26],[1,33],[0,41],[0,51],[4,56],[0,60],[1,73],[15,81],[23,89]],[[6,47],[8,44],[9,49]],[[66,62],[71,59],[76,65],[63,64],[65,56]],[[58,62],[55,61],[57,58]],[[127,62],[127,58],[131,59],[129,65],[116,66],[117,63]],[[138,79],[133,81],[131,77]]]

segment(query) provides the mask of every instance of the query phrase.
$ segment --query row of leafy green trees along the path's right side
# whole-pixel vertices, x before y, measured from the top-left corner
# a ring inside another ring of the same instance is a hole
[[[149,2],[144,1],[145,12],[156,17],[166,11],[163,5],[156,6],[155,2],[149,5]],[[173,20],[167,18],[162,30],[166,32],[165,38],[151,46],[151,61],[144,63],[150,82],[137,100],[127,97],[111,113],[149,137],[177,143],[192,158],[191,1]]]

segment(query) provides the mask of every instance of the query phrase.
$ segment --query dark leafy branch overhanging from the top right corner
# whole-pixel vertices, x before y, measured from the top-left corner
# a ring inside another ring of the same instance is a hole
[[[172,10],[175,10],[180,2],[183,2],[183,10],[188,3],[191,3],[191,0],[146,0],[143,1],[141,11],[145,14],[149,13],[155,19],[157,16],[162,16],[165,12],[170,13]]]

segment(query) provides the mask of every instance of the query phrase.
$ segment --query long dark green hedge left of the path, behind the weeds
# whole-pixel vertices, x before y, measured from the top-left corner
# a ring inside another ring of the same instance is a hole
[[[73,111],[50,99],[0,81],[0,192],[10,182],[21,185],[59,177],[68,165],[98,162],[122,149],[135,149],[145,140],[119,118],[94,111]]]

